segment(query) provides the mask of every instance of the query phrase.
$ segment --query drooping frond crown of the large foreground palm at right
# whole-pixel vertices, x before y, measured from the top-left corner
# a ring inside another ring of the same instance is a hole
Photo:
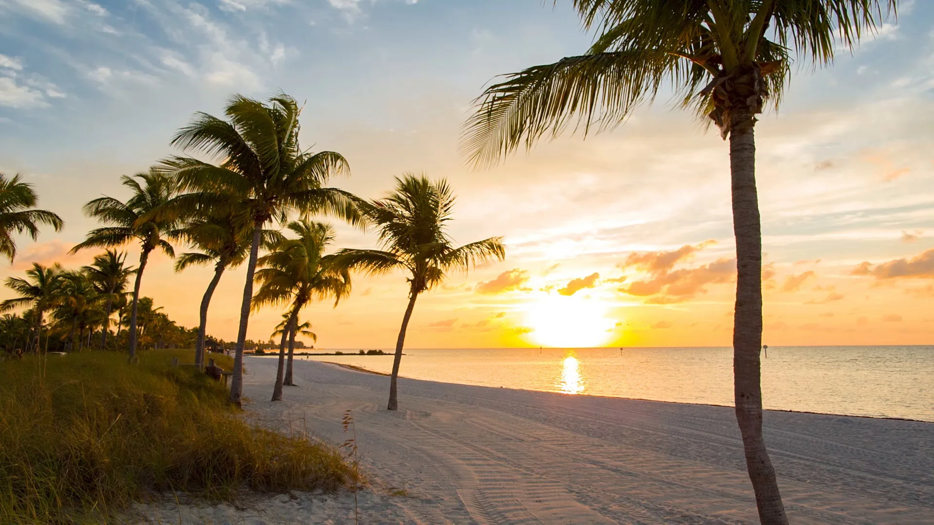
[[[829,64],[836,46],[874,30],[881,4],[894,11],[897,1],[573,0],[600,36],[587,54],[490,85],[464,128],[464,152],[490,164],[569,127],[612,129],[666,83],[726,137],[737,108],[755,115],[779,104],[792,50]]]

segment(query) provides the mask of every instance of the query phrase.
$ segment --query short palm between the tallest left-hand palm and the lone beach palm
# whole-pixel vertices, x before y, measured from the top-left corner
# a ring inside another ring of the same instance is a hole
[[[335,257],[325,255],[333,243],[334,230],[330,224],[295,220],[288,229],[298,235],[294,239],[283,239],[268,255],[260,259],[262,269],[257,270],[256,280],[261,283],[260,291],[253,297],[253,307],[290,303],[290,314],[282,333],[279,346],[279,364],[273,401],[282,400],[282,385],[292,383],[292,354],[295,348],[295,331],[298,313],[313,299],[324,301],[333,298],[334,306],[350,293],[350,275],[347,269],[334,265]],[[289,333],[289,366],[283,377],[285,361],[285,339]]]

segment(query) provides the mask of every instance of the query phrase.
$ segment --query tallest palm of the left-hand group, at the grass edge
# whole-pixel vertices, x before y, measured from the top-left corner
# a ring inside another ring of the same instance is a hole
[[[243,394],[243,348],[263,226],[270,220],[284,222],[291,212],[329,213],[351,223],[361,220],[354,206],[356,197],[323,187],[333,175],[349,172],[344,157],[333,151],[311,153],[299,147],[300,113],[295,99],[284,93],[270,98],[268,105],[233,95],[225,108],[226,121],[197,113],[172,139],[172,145],[200,151],[219,164],[191,157],[172,157],[162,163],[163,170],[173,174],[181,188],[203,206],[233,199],[251,222],[247,282],[231,380],[231,401],[238,405]]]

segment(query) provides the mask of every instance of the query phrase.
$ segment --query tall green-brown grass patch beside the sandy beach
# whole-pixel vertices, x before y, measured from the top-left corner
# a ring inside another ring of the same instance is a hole
[[[223,383],[173,357],[193,352],[142,352],[137,365],[114,352],[0,362],[0,523],[107,522],[167,490],[229,500],[353,484],[335,447],[250,427]]]

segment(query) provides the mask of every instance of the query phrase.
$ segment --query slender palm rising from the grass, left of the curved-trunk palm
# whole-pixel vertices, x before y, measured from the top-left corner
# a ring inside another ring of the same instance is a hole
[[[133,361],[136,357],[139,287],[143,282],[143,270],[149,261],[149,253],[160,248],[169,257],[175,257],[172,245],[164,238],[175,227],[175,221],[161,217],[156,211],[175,195],[176,189],[174,181],[156,169],[133,177],[124,175],[120,177],[120,182],[129,188],[133,195],[125,203],[105,196],[84,205],[85,215],[100,220],[107,226],[93,229],[83,242],[71,248],[70,253],[84,248],[114,248],[133,241],[140,243],[139,266],[136,269],[133,304],[130,310],[130,361]]]

